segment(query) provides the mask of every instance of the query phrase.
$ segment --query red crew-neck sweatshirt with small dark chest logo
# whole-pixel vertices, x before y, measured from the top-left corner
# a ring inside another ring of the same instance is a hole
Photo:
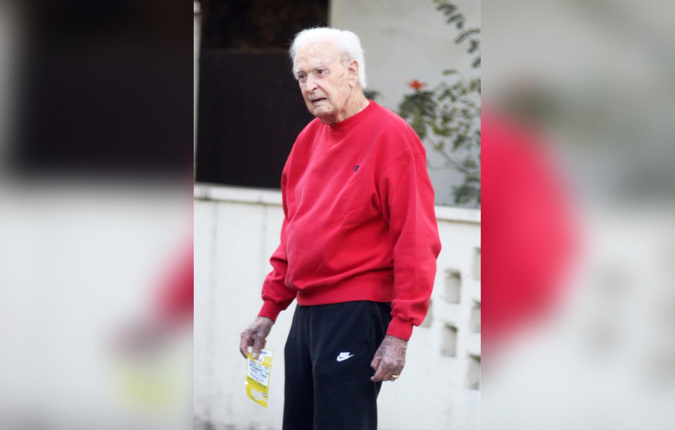
[[[281,175],[281,244],[259,315],[300,305],[391,302],[387,334],[408,340],[429,308],[441,250],[425,148],[371,100],[298,135]]]

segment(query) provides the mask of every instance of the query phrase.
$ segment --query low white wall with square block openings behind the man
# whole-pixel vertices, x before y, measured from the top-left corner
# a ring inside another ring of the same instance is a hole
[[[194,415],[195,428],[279,429],[284,404],[284,344],[295,305],[282,312],[267,340],[275,350],[270,406],[244,392],[245,361],[239,334],[262,305],[284,216],[281,193],[231,187],[195,187],[194,202]],[[480,301],[480,212],[437,206],[443,249],[432,295],[431,324],[415,328],[404,376],[379,396],[380,429],[479,429],[480,392],[466,388],[469,355],[481,353],[470,311]],[[462,276],[461,301],[445,301],[448,270]],[[456,357],[441,354],[445,324],[458,329]]]

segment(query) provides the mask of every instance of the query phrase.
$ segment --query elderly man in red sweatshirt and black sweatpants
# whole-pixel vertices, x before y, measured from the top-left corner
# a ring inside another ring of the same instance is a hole
[[[281,176],[281,244],[240,352],[252,345],[257,357],[297,299],[284,350],[284,429],[376,429],[377,394],[401,375],[441,249],[425,149],[398,115],[365,98],[356,34],[304,30],[290,56],[317,118]]]

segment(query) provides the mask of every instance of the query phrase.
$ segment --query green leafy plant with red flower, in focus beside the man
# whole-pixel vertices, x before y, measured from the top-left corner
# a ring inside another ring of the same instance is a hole
[[[466,18],[447,0],[434,0],[448,24],[459,30],[453,40],[467,43],[475,55],[472,67],[481,65],[479,28],[464,28]],[[430,90],[424,82],[412,80],[413,92],[404,95],[398,110],[420,139],[431,145],[444,162],[432,170],[454,168],[464,175],[462,185],[453,186],[456,204],[481,204],[481,78],[466,79],[456,69],[443,71],[445,79]]]

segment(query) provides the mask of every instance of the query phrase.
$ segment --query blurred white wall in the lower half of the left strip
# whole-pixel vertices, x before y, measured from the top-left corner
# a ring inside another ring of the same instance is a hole
[[[188,428],[189,327],[147,354],[120,341],[156,315],[191,224],[169,186],[0,185],[1,429]]]

